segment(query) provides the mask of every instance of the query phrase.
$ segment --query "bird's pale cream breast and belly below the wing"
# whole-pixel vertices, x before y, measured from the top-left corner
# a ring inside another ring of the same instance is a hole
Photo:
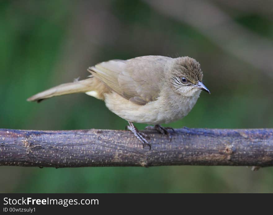
[[[119,117],[132,122],[157,125],[169,123],[185,117],[199,98],[198,91],[192,97],[173,94],[159,96],[153,102],[138,105],[130,102],[115,92],[105,94],[105,104]]]

